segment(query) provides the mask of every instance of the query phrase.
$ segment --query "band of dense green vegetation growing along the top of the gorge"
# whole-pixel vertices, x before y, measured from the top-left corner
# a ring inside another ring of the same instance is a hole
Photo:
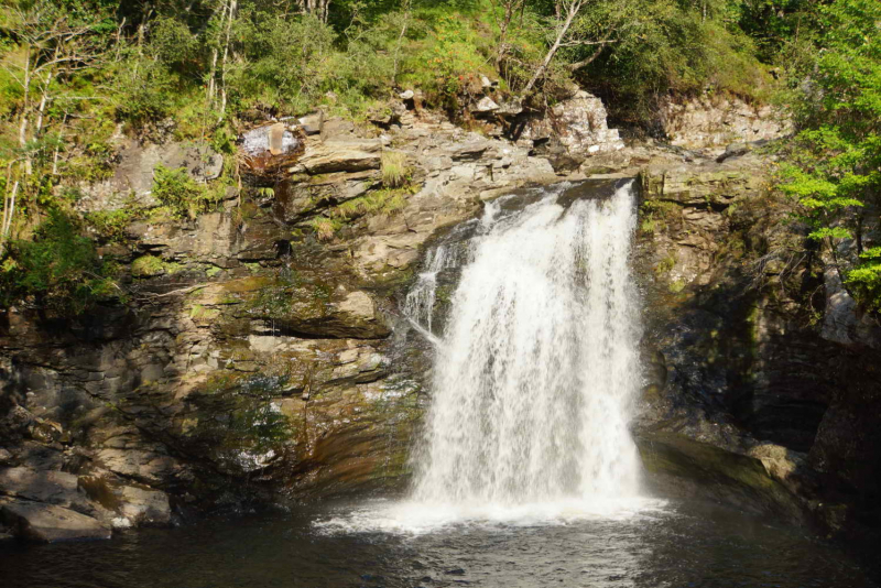
[[[66,292],[73,274],[36,268],[72,243],[79,271],[109,275],[91,241],[69,240],[84,227],[112,240],[129,220],[73,214],[77,186],[111,174],[115,135],[198,139],[231,154],[242,121],[319,106],[357,119],[402,89],[467,118],[460,105],[486,75],[536,107],[576,83],[649,132],[671,97],[784,97],[803,130],[784,189],[815,238],[853,237],[862,261],[842,275],[878,307],[881,249],[863,244],[855,210],[878,193],[880,10],[873,0],[3,0],[4,300]],[[156,182],[170,218],[215,202],[174,170]],[[107,292],[96,283],[77,296]]]

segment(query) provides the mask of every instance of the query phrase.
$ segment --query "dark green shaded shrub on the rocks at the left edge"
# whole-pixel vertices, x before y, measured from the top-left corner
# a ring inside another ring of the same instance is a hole
[[[11,243],[0,268],[4,306],[20,301],[61,314],[79,314],[119,293],[115,268],[102,263],[76,217],[54,208],[29,241]]]

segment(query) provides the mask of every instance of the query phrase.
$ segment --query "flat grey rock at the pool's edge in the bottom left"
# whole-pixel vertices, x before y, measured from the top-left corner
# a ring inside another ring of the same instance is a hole
[[[39,502],[2,503],[0,518],[18,536],[42,543],[108,540],[111,535],[110,527],[91,516]]]

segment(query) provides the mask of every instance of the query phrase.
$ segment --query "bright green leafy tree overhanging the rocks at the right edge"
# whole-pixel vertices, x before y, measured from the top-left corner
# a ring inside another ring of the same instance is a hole
[[[864,208],[881,193],[881,3],[836,0],[819,10],[822,34],[813,65],[797,70],[794,110],[803,129],[781,167],[781,188],[798,205],[809,237],[838,249],[862,235]],[[846,284],[867,307],[879,309],[878,248],[838,260]],[[851,268],[848,268],[850,265]]]

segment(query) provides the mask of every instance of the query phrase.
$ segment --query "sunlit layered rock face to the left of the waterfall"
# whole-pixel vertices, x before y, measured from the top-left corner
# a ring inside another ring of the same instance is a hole
[[[100,249],[127,269],[124,302],[3,316],[0,526],[94,538],[402,488],[428,364],[396,308],[420,251],[481,198],[557,177],[525,148],[402,115],[384,133],[323,118],[249,131],[252,187],[193,220],[132,222]],[[127,151],[120,178],[157,149]],[[409,176],[396,192],[388,152]],[[88,210],[118,199],[96,190]]]

